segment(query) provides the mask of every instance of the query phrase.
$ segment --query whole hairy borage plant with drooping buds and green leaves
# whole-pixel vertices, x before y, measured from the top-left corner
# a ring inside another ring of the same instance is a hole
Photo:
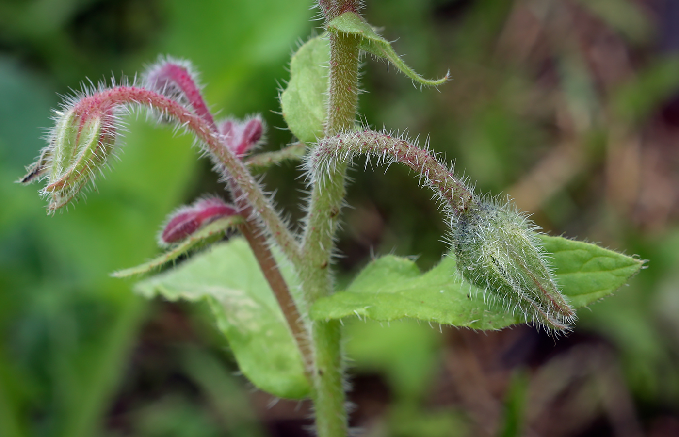
[[[147,297],[207,301],[242,373],[282,398],[311,398],[319,436],[345,436],[345,317],[416,318],[452,326],[500,329],[528,322],[562,333],[576,309],[610,295],[642,261],[593,244],[549,237],[509,203],[476,195],[436,153],[407,138],[356,123],[361,55],[386,58],[422,86],[424,79],[359,14],[355,0],[320,0],[325,33],[293,55],[280,96],[297,138],[285,149],[253,155],[265,126],[259,117],[215,120],[190,65],[162,58],[139,83],[86,90],[55,111],[49,145],[22,183],[46,180],[48,212],[67,206],[107,166],[122,117],[149,109],[194,134],[227,184],[231,204],[203,197],[170,214],[159,242],[167,251],[117,277],[188,261],[139,284]],[[335,234],[346,170],[357,155],[403,164],[435,193],[450,253],[426,273],[409,259],[373,260],[346,290],[333,286]],[[274,208],[253,174],[301,159],[310,189],[301,234]],[[240,232],[242,237],[226,234]],[[210,250],[197,252],[210,245]]]

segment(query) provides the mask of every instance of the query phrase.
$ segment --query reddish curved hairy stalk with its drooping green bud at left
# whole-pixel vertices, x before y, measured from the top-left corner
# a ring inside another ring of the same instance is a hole
[[[83,92],[55,111],[56,124],[48,137],[49,145],[41,151],[39,159],[26,168],[28,173],[19,182],[48,178],[48,185],[41,190],[42,195],[50,198],[48,212],[66,206],[107,166],[113,154],[115,133],[123,127],[120,115],[130,108],[145,107],[194,134],[200,147],[227,170],[229,178],[245,193],[255,218],[261,220],[268,234],[295,262],[299,251],[295,237],[243,161],[223,145],[214,123],[209,121],[212,116],[200,116],[194,111],[196,102],[198,100],[187,108],[159,92],[139,86],[101,87],[96,92]]]

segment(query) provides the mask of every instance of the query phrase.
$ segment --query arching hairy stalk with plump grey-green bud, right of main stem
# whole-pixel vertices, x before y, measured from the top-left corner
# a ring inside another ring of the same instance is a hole
[[[335,135],[308,155],[311,183],[323,187],[339,164],[362,154],[376,157],[378,164],[405,164],[433,189],[448,216],[458,271],[484,290],[486,299],[523,312],[527,322],[536,320],[553,330],[570,328],[575,313],[555,283],[536,225],[509,204],[477,198],[430,151],[380,132]]]

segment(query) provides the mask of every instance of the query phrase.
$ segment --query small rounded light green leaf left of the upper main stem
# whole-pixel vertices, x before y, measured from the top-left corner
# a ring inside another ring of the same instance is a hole
[[[322,37],[306,41],[290,61],[290,81],[280,94],[280,107],[290,131],[301,142],[323,137],[329,62],[330,46]]]

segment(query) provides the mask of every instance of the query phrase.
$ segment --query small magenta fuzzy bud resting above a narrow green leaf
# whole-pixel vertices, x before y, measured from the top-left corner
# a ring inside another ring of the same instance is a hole
[[[161,246],[181,242],[204,225],[212,223],[217,218],[236,215],[234,206],[225,203],[219,197],[205,197],[198,199],[191,206],[182,206],[170,214],[167,224],[163,227],[158,242]]]

